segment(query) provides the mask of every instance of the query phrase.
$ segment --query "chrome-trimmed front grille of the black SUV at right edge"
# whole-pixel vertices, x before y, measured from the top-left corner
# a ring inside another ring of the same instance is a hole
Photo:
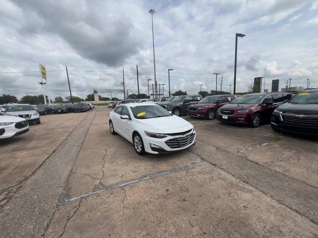
[[[318,126],[318,114],[282,113],[281,116],[283,121],[287,123]]]

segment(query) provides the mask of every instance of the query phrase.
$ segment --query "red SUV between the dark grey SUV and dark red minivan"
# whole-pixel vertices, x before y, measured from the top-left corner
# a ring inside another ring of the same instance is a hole
[[[220,107],[236,99],[239,95],[213,95],[201,99],[188,107],[188,116],[213,120]]]

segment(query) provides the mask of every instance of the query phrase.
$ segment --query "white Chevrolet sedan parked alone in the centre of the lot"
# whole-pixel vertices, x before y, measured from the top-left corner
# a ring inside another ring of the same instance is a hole
[[[168,153],[195,144],[193,125],[153,103],[129,103],[109,113],[109,129],[134,144],[137,154]]]

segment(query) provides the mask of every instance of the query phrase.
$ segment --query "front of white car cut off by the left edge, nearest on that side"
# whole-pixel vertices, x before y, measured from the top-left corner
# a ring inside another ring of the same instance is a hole
[[[27,131],[29,131],[27,120],[12,116],[0,117],[0,139],[12,138]]]

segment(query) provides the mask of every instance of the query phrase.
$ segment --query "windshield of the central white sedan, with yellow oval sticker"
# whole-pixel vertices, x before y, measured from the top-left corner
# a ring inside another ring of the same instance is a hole
[[[146,106],[131,106],[134,118],[136,119],[150,119],[150,118],[161,118],[170,117],[171,114],[159,105],[146,105]]]

